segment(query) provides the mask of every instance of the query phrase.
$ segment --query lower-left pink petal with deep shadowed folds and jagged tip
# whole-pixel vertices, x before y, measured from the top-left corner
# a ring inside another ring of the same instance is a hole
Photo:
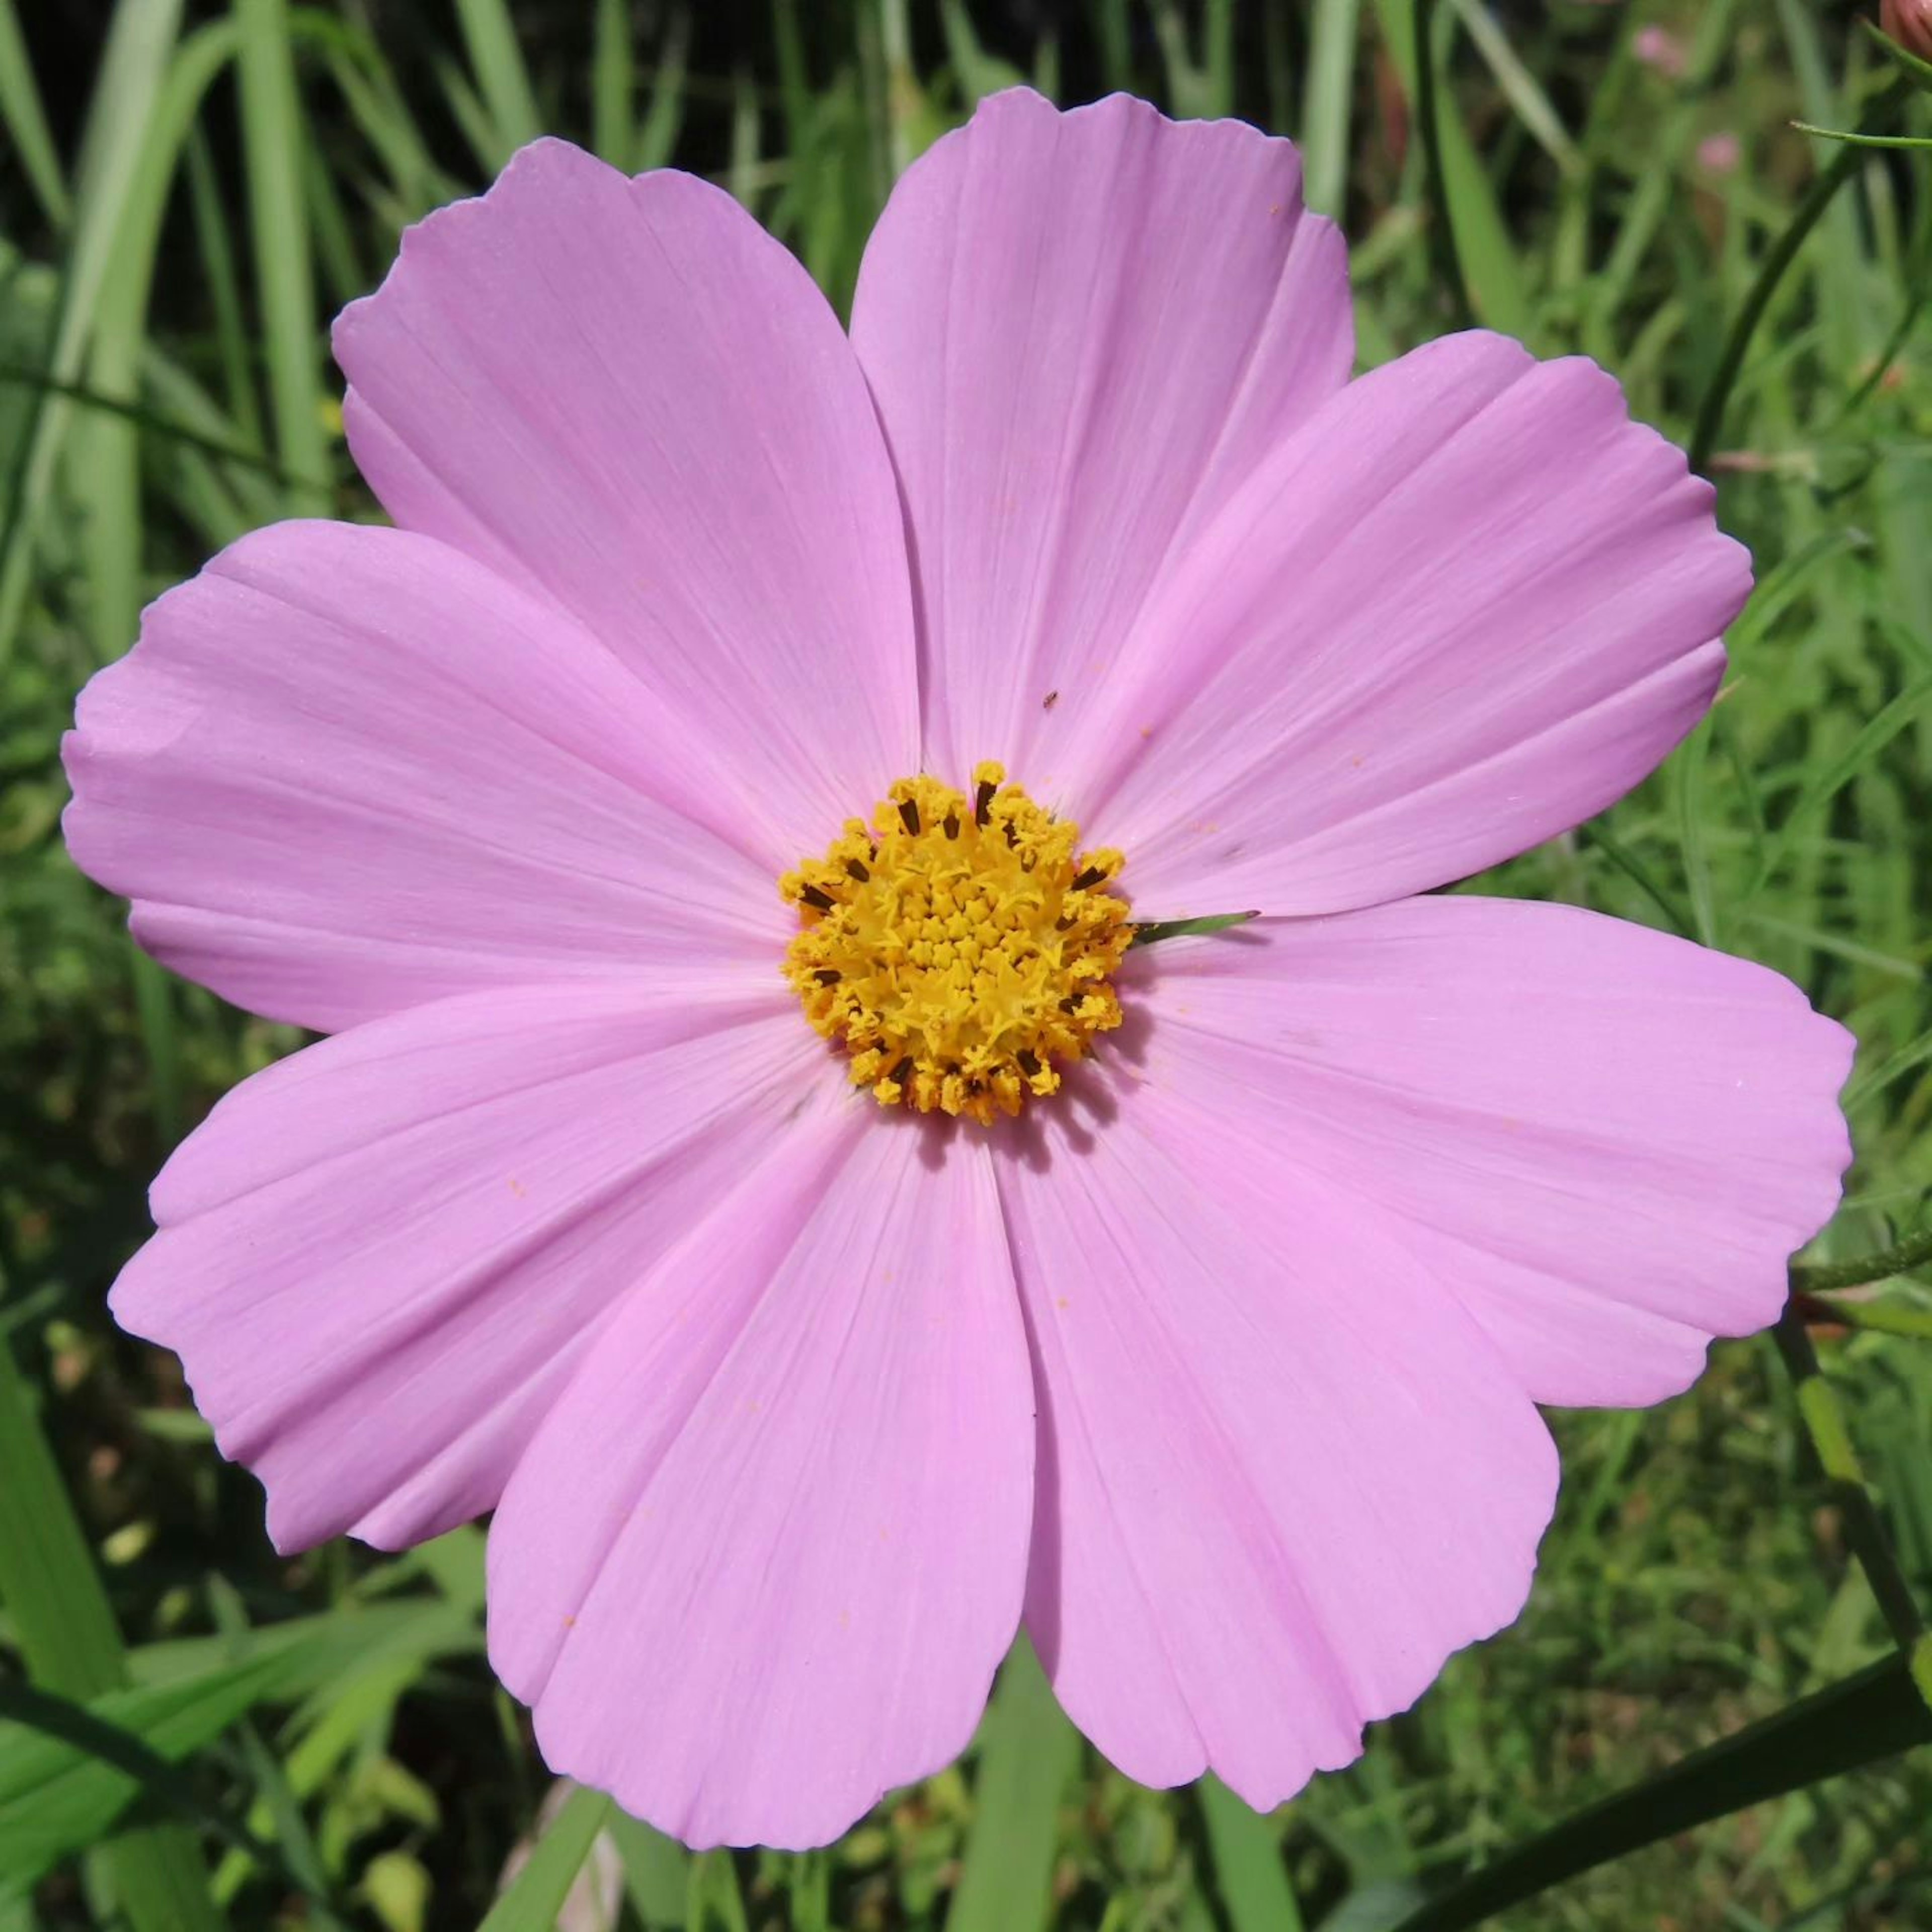
[[[182,1356],[276,1548],[402,1548],[495,1505],[612,1310],[827,1088],[744,970],[417,1007],[214,1109],[114,1314]]]

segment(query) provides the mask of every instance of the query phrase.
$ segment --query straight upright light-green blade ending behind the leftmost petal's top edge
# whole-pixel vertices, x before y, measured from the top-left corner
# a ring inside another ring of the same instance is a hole
[[[296,93],[288,4],[236,0],[234,19],[242,31],[242,156],[274,446],[282,466],[298,479],[290,514],[325,516],[330,506],[328,456],[309,205],[301,185],[307,129]]]

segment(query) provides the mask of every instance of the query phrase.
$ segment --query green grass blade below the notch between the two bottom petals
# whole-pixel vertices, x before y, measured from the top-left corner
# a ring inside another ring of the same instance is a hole
[[[974,1822],[947,1932],[1028,1932],[1053,1917],[1057,1814],[1080,1764],[1080,1733],[1024,1636],[999,1673],[981,1735]]]

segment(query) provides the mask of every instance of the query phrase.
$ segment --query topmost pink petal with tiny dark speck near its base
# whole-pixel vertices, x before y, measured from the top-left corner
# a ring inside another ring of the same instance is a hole
[[[1354,354],[1287,141],[1024,89],[898,184],[852,342],[906,493],[925,761],[1001,757],[1036,792],[1163,560]]]

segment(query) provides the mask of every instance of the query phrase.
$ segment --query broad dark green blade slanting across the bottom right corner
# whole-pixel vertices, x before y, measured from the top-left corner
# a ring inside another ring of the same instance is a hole
[[[1905,1660],[1888,1658],[1577,1812],[1432,1899],[1399,1932],[1464,1932],[1658,1839],[1928,1743],[1932,1712]]]

